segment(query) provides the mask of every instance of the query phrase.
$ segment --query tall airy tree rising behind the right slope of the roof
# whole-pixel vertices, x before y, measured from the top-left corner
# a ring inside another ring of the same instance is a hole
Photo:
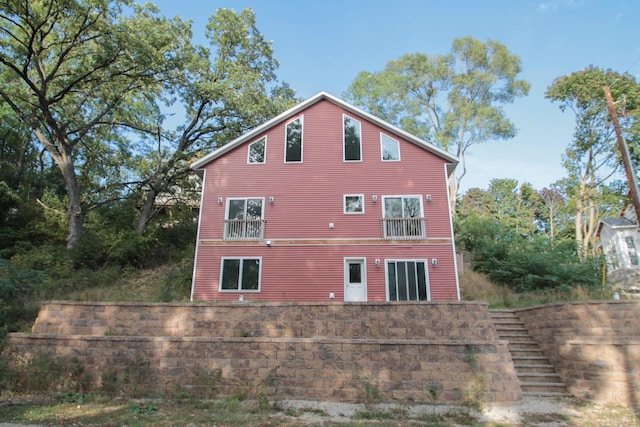
[[[502,43],[467,36],[455,39],[447,55],[406,54],[381,72],[361,72],[345,98],[455,154],[461,161],[449,181],[455,206],[469,147],[516,134],[501,106],[528,94],[520,71],[520,58]]]

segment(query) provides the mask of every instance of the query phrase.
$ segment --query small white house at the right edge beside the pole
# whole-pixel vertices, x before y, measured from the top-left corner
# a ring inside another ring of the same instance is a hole
[[[598,224],[602,250],[609,274],[619,270],[640,269],[640,228],[622,216],[602,218]]]

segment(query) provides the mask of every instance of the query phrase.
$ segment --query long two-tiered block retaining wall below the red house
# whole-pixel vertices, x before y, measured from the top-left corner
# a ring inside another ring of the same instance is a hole
[[[261,385],[278,398],[460,403],[522,397],[507,343],[484,303],[110,304],[51,302],[9,351],[77,360],[101,387],[106,371],[145,361],[141,388],[219,395]]]

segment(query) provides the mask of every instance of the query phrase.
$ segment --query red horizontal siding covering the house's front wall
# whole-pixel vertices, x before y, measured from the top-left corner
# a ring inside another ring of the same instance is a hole
[[[362,162],[343,162],[342,114],[362,124]],[[400,141],[400,162],[382,162],[380,132],[374,123],[345,112],[323,100],[304,115],[303,163],[284,162],[284,129],[288,122],[247,141],[205,167],[205,183],[199,248],[195,271],[195,299],[237,299],[237,294],[218,292],[222,256],[262,256],[263,300],[327,300],[329,292],[343,299],[343,259],[367,257],[368,298],[385,300],[384,266],[375,258],[438,258],[429,266],[432,299],[456,299],[453,245],[383,244],[365,246],[278,246],[278,239],[380,239],[385,195],[420,195],[427,221],[427,237],[450,241],[451,228],[444,165],[446,161],[417,145],[384,131]],[[294,119],[297,116],[293,116]],[[267,136],[266,163],[247,164],[251,142]],[[364,194],[365,214],[343,214],[344,194]],[[432,195],[432,201],[425,195]],[[378,196],[374,202],[372,196]],[[267,198],[273,196],[273,204]],[[223,198],[218,204],[217,199]],[[222,239],[228,197],[265,198],[265,239],[249,245],[204,246]],[[329,228],[329,223],[334,228]],[[360,242],[361,243],[361,242]]]

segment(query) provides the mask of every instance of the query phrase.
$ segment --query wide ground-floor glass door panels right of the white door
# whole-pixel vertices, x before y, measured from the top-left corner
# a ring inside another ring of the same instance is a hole
[[[389,301],[428,301],[426,261],[387,261]]]

